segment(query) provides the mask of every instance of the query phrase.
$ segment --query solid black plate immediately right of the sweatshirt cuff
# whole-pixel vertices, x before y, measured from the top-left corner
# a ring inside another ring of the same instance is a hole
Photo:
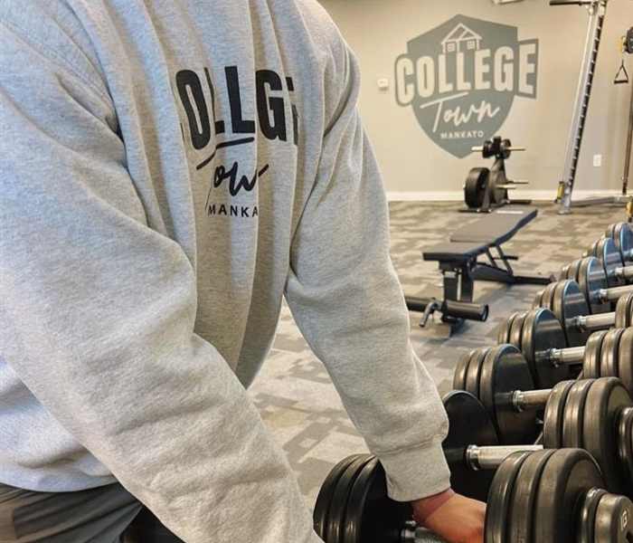
[[[468,392],[449,392],[442,401],[449,416],[449,434],[442,447],[447,452],[459,452],[447,453],[451,487],[468,498],[486,501],[494,472],[472,470],[466,463],[465,450],[471,444],[498,445],[495,425],[485,407]]]

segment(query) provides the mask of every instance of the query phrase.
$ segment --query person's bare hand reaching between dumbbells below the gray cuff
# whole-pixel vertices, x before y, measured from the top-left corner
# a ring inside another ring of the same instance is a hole
[[[455,494],[428,516],[425,500],[411,505],[413,519],[449,543],[484,543],[485,503]]]

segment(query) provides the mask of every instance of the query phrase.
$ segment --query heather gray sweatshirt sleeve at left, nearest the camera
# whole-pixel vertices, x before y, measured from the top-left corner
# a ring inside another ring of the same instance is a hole
[[[320,541],[283,453],[194,333],[101,81],[0,21],[0,358],[188,543]],[[249,519],[249,521],[245,521]]]

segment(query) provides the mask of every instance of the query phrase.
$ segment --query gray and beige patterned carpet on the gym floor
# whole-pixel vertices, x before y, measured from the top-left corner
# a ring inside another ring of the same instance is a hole
[[[458,214],[457,208],[457,203],[392,203],[392,258],[407,294],[441,295],[437,263],[422,262],[420,251],[448,240],[453,230],[477,220],[474,214]],[[515,264],[517,271],[558,272],[564,263],[578,258],[609,224],[625,220],[624,216],[621,208],[608,206],[560,216],[553,205],[541,205],[534,222],[504,249],[521,256]],[[471,348],[494,343],[502,319],[512,311],[527,308],[539,288],[478,282],[475,296],[490,304],[490,318],[485,323],[468,323],[449,339],[434,327],[420,329],[420,315],[411,313],[413,343],[442,394],[449,390],[459,356]],[[287,452],[309,504],[316,500],[319,486],[335,462],[366,450],[325,368],[307,347],[287,307],[282,310],[269,360],[250,393]]]

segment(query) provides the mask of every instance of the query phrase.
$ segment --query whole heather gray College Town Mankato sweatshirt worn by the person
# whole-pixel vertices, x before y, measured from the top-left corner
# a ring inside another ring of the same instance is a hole
[[[315,0],[0,0],[0,481],[317,541],[246,392],[285,296],[392,497],[449,487],[358,92]]]

